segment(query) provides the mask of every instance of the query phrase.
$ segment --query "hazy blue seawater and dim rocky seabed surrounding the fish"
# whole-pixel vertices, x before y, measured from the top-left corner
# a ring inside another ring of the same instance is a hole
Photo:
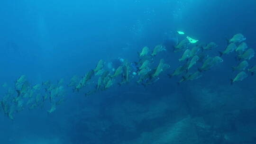
[[[181,65],[182,53],[166,46],[155,56],[170,67],[159,80],[136,81],[85,96],[97,79],[79,91],[68,87],[117,59],[138,61],[144,46],[153,50],[186,36],[218,46],[241,33],[256,47],[256,0],[6,0],[0,2],[0,99],[26,75],[31,85],[64,80],[64,101],[17,110],[9,118],[0,109],[0,144],[256,144],[256,76],[230,84],[236,54],[200,79],[177,84],[168,77]],[[198,42],[198,43],[199,43]],[[256,58],[248,61],[251,68]],[[201,64],[193,67],[197,70]],[[136,77],[136,76],[134,76]],[[95,82],[96,81],[96,82]],[[3,102],[3,101],[2,101]]]

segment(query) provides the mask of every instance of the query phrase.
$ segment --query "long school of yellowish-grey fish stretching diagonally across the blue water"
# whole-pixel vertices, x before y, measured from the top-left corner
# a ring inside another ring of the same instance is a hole
[[[25,75],[21,75],[12,87],[4,83],[2,87],[6,93],[0,99],[1,111],[10,119],[14,119],[14,114],[23,109],[34,109],[38,107],[47,107],[47,112],[53,113],[56,106],[64,102],[66,95],[66,86],[72,88],[73,92],[85,91],[90,88],[84,96],[89,96],[96,92],[108,90],[115,84],[123,85],[129,82],[136,82],[143,86],[155,83],[160,79],[160,75],[169,78],[181,76],[177,83],[185,81],[194,81],[202,77],[203,72],[209,71],[223,62],[221,58],[224,54],[235,52],[238,64],[232,66],[232,70],[237,72],[236,76],[230,81],[231,84],[237,81],[243,81],[247,78],[247,72],[253,75],[256,72],[256,65],[249,67],[248,61],[254,57],[254,49],[248,48],[244,42],[246,38],[242,34],[236,34],[228,40],[227,47],[219,52],[219,56],[210,57],[207,52],[218,47],[214,42],[207,45],[190,43],[187,38],[181,40],[174,46],[174,53],[181,53],[178,62],[180,65],[173,72],[167,73],[172,63],[166,63],[163,58],[157,59],[159,53],[166,52],[164,45],[156,45],[154,48],[143,47],[138,53],[138,60],[130,62],[125,59],[114,71],[111,71],[104,60],[99,60],[94,69],[85,72],[84,75],[74,75],[69,83],[64,84],[64,79],[56,83],[44,81],[42,83],[31,84],[27,81]],[[197,40],[198,41],[198,40]],[[197,42],[196,41],[196,42]],[[133,68],[136,65],[136,69]]]

